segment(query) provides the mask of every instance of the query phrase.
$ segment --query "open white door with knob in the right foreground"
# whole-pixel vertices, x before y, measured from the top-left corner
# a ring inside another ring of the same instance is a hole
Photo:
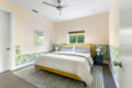
[[[132,0],[120,0],[120,88],[132,88]]]

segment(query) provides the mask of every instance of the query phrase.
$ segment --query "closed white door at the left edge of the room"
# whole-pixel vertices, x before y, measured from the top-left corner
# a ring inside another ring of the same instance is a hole
[[[0,9],[0,73],[10,69],[10,13]]]

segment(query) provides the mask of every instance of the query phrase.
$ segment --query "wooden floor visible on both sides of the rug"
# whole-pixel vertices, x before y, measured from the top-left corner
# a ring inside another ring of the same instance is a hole
[[[103,65],[105,88],[116,88],[109,66]],[[0,88],[36,88],[11,72],[0,74]]]

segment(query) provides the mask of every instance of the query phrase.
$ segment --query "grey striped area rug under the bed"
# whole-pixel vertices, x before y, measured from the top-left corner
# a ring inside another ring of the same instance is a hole
[[[85,88],[80,81],[46,70],[35,69],[34,66],[15,70],[13,74],[37,88]],[[102,67],[94,66],[91,75],[94,81],[90,87],[87,86],[86,88],[105,88]]]

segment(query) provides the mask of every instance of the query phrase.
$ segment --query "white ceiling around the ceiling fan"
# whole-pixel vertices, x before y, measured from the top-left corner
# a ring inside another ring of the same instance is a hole
[[[95,15],[108,12],[110,8],[110,0],[62,0],[62,4],[68,2],[76,2],[62,10],[62,15],[56,8],[43,4],[43,1],[57,4],[56,0],[9,0],[29,11],[33,9],[38,11],[38,14],[53,22],[62,22],[89,15]]]

